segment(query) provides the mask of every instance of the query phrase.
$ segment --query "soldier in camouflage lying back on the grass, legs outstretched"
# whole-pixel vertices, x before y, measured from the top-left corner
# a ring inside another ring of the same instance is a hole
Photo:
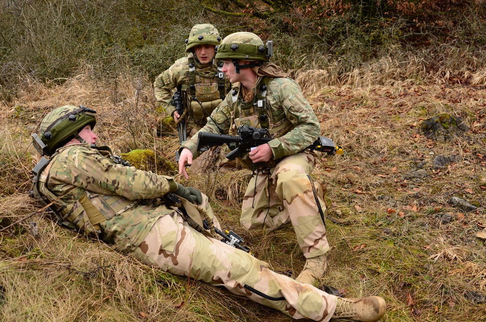
[[[54,202],[51,209],[64,225],[132,253],[146,265],[181,276],[191,273],[294,319],[372,322],[384,315],[381,297],[327,294],[221,242],[208,198],[171,177],[120,164],[108,147],[96,147],[95,116],[83,106],[58,107],[33,135],[44,155],[34,169],[34,194],[42,204]]]

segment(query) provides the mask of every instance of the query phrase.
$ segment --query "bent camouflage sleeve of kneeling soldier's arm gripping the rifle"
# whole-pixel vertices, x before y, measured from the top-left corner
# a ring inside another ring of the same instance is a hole
[[[269,142],[273,158],[278,160],[295,154],[312,144],[321,135],[321,126],[299,85],[290,78],[276,78],[270,83],[269,95],[284,110],[295,127],[287,134]]]

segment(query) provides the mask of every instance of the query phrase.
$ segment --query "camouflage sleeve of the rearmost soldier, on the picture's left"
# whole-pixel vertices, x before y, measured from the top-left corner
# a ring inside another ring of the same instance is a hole
[[[169,67],[168,70],[162,72],[162,74],[155,78],[155,98],[171,116],[176,110],[175,107],[170,105],[170,102],[172,101],[172,90],[178,87],[180,84],[185,84],[187,82],[188,72],[188,59],[187,57],[182,57],[176,60],[176,62]]]

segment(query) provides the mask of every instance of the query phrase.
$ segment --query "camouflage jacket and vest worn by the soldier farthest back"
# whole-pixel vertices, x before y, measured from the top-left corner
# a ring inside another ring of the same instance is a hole
[[[154,82],[155,98],[173,116],[175,107],[170,104],[172,91],[181,85],[184,107],[189,107],[188,125],[199,129],[206,124],[206,118],[221,103],[230,88],[221,67],[222,63],[219,65],[216,59],[211,64],[200,64],[194,54],[189,53],[157,76]],[[206,95],[208,92],[212,95]],[[195,97],[201,104],[194,101]]]

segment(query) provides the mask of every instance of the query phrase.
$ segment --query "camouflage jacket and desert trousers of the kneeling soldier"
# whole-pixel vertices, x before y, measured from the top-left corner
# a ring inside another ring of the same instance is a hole
[[[260,81],[261,78],[252,89],[255,95]],[[238,86],[239,84],[235,84],[234,89],[238,89]],[[264,167],[267,169],[267,175],[262,174],[262,169],[253,172],[242,204],[240,221],[246,228],[261,227],[265,224],[269,230],[290,221],[304,256],[310,258],[322,255],[329,250],[329,245],[324,223],[306,176],[312,172],[315,159],[311,154],[299,153],[321,134],[319,122],[312,107],[302,95],[300,87],[290,78],[272,79],[266,100],[270,133],[273,132],[274,135],[274,139],[269,142],[274,160],[267,162]],[[239,116],[247,113],[242,110],[242,106],[240,97],[231,91],[213,112],[212,118],[217,126],[229,132],[231,129],[234,130],[237,121],[234,119],[235,114]],[[251,116],[240,123],[254,121],[251,125],[260,127],[259,118],[256,116],[257,111],[252,110]],[[281,128],[286,123],[291,127],[290,130]],[[200,131],[218,133],[217,126],[209,119]],[[279,131],[272,131],[279,128]],[[196,145],[197,136],[183,143],[181,148],[190,149],[197,158],[199,154]],[[267,188],[267,184],[270,184],[270,187]],[[325,211],[322,199],[320,203]],[[269,215],[266,216],[267,212]]]

